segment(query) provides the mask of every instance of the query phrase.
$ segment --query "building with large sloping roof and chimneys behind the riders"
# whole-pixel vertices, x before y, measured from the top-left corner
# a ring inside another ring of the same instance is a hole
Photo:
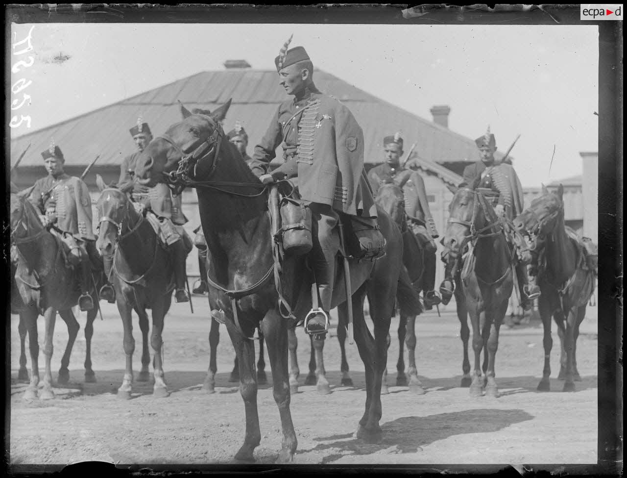
[[[142,116],[154,135],[161,134],[181,120],[179,101],[189,110],[213,110],[231,98],[224,129],[230,130],[239,120],[248,133],[250,154],[265,133],[268,121],[278,105],[287,98],[285,90],[278,84],[274,70],[251,69],[245,60],[228,60],[224,66],[225,70],[201,72],[182,78],[13,139],[12,164],[28,144],[31,147],[11,174],[11,179],[19,188],[26,188],[44,176],[46,173],[40,152],[47,149],[51,138],[54,138],[65,156],[65,171],[68,174],[80,176],[85,166],[100,155],[85,178],[95,198],[95,175],[102,175],[106,183],[117,181],[122,159],[135,151],[129,129],[135,125],[137,117]],[[364,130],[366,169],[383,162],[384,136],[401,132],[406,153],[412,144],[416,144],[408,164],[424,173],[431,212],[438,231],[443,234],[448,218],[448,203],[452,198],[447,186],[457,186],[461,182],[463,166],[478,160],[475,141],[448,129],[450,107],[433,107],[431,121],[389,104],[324,71],[316,70],[314,82],[322,92],[333,95],[347,105]],[[497,152],[496,156],[502,157],[502,154]],[[282,152],[277,151],[277,159],[273,162],[280,164],[280,161]],[[185,191],[183,200],[191,233],[200,223],[195,191]],[[188,270],[190,275],[198,274],[195,254],[190,255]],[[443,271],[438,270],[438,281],[442,275]]]

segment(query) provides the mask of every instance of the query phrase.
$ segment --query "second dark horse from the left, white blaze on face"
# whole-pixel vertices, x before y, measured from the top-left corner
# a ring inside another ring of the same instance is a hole
[[[115,288],[122,325],[124,326],[124,353],[126,369],[124,380],[118,389],[120,398],[129,399],[133,384],[133,338],[132,311],[139,316],[139,328],[144,344],[142,369],[139,381],[149,380],[148,364],[148,314],[152,309],[152,336],[150,344],[154,352],[155,397],[169,395],[164,380],[162,333],[164,317],[170,309],[174,290],[174,268],[164,245],[157,237],[144,213],[135,211],[128,196],[117,188],[106,186],[100,176],[96,180],[101,194],[98,198],[98,240],[96,246],[103,256],[113,256],[112,284]]]

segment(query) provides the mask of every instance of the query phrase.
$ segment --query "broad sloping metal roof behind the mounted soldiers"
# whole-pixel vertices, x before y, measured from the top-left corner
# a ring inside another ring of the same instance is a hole
[[[473,139],[418,117],[389,104],[343,80],[318,70],[316,86],[343,102],[364,130],[365,161],[382,161],[382,139],[401,131],[406,149],[416,142],[415,152],[428,163],[475,161],[477,147]],[[20,167],[41,166],[41,151],[54,138],[63,151],[68,166],[87,165],[100,154],[101,166],[120,164],[135,151],[129,129],[142,115],[154,135],[181,120],[177,101],[187,109],[211,109],[233,98],[224,129],[230,130],[240,120],[249,136],[249,154],[268,127],[278,104],[285,101],[285,90],[278,84],[273,70],[223,70],[201,72],[162,87],[127,98],[112,105],[65,120],[55,125],[21,135],[11,141],[11,164],[32,143]],[[499,156],[497,153],[496,156]],[[282,157],[281,152],[277,152]],[[446,174],[440,171],[442,174]]]

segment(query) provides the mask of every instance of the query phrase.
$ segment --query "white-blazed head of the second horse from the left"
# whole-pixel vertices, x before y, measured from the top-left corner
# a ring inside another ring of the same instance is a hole
[[[96,247],[102,255],[110,256],[123,228],[128,228],[130,215],[135,212],[125,193],[115,185],[107,186],[100,174],[96,175],[100,197],[96,203],[98,213],[98,239]]]

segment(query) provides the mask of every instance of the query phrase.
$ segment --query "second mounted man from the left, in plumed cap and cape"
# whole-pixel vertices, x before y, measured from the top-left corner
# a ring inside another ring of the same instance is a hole
[[[130,129],[137,150],[122,161],[120,166],[120,180],[118,188],[124,193],[130,193],[134,203],[138,207],[148,208],[155,214],[159,222],[160,236],[166,242],[174,260],[174,276],[176,280],[176,302],[189,302],[189,294],[185,290],[186,282],[186,258],[189,252],[184,242],[186,233],[182,228],[187,218],[181,210],[181,196],[174,196],[166,184],[157,184],[154,188],[147,188],[139,184],[133,177],[137,157],[144,151],[147,144],[152,141],[152,133],[147,123],[142,118],[137,119],[137,124]],[[105,258],[105,274],[109,277],[112,268],[113,257]],[[111,285],[104,285],[100,290],[100,297],[109,302],[115,302],[115,290]]]

